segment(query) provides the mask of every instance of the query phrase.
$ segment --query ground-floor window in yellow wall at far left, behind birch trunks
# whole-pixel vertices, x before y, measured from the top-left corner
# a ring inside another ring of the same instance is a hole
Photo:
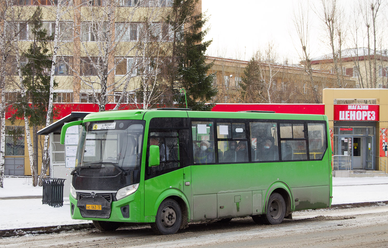
[[[24,127],[5,127],[5,156],[24,156]]]

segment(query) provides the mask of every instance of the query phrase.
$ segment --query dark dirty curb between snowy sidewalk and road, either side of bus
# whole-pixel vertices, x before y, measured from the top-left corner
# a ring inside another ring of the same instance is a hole
[[[382,205],[382,204],[388,205],[388,201],[335,204],[335,205],[331,205],[330,208],[360,208],[364,206],[373,206],[373,205]],[[330,208],[326,208],[326,209],[330,209]],[[0,230],[0,238],[24,236],[26,234],[50,234],[50,233],[61,232],[61,231],[81,230],[81,229],[87,229],[87,228],[95,228],[95,227],[93,223],[84,223],[84,224],[73,224],[73,225],[49,226],[49,227],[31,227],[31,228]]]

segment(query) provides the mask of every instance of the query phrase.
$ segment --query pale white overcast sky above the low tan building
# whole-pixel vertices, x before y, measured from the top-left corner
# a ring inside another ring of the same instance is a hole
[[[350,5],[357,2],[341,0],[345,9],[350,9]],[[320,6],[319,0],[310,3]],[[289,63],[298,63],[300,59],[296,49],[300,50],[300,43],[292,21],[294,9],[298,9],[297,0],[202,0],[202,11],[210,18],[210,32],[205,40],[213,39],[208,55],[249,60],[254,51],[272,41],[279,54],[277,62],[287,58]],[[309,15],[315,16],[313,11]],[[315,26],[310,31],[310,55],[328,54],[331,50],[323,36],[325,31],[316,17],[313,20]]]

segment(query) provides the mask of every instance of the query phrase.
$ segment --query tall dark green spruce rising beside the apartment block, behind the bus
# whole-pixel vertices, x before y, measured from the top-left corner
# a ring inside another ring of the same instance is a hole
[[[202,30],[207,19],[202,13],[196,14],[197,0],[175,0],[172,14],[167,18],[174,31],[171,68],[171,94],[180,108],[187,107],[196,111],[210,111],[214,104],[206,105],[217,94],[213,86],[213,75],[208,71],[213,65],[206,64],[206,49],[210,41],[203,42],[208,29]]]

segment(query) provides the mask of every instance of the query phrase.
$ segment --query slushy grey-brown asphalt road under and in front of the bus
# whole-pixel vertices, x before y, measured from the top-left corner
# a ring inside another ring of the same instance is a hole
[[[114,232],[94,228],[0,239],[0,247],[388,247],[388,205],[294,212],[280,225],[256,225],[250,217],[229,223],[195,222],[170,236],[149,225]]]

